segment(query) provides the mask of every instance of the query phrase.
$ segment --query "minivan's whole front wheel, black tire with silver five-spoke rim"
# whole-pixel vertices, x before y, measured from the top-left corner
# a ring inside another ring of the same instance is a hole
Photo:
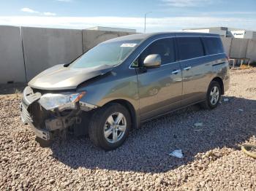
[[[89,137],[98,147],[112,150],[120,147],[129,135],[131,117],[121,104],[107,104],[94,112],[89,125]]]

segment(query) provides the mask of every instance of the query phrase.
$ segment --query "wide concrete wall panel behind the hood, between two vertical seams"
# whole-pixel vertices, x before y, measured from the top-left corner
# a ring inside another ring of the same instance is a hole
[[[83,53],[81,30],[22,27],[21,34],[28,80]]]

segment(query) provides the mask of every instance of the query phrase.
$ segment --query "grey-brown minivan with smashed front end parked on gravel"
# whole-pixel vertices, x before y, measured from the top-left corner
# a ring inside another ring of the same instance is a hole
[[[41,141],[69,131],[116,149],[129,130],[154,117],[192,104],[216,108],[229,82],[217,34],[121,36],[31,79],[21,119]]]

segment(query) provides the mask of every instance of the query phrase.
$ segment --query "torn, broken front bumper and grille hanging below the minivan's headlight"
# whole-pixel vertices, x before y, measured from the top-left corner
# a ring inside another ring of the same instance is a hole
[[[24,124],[28,124],[37,137],[50,141],[55,130],[64,130],[72,125],[81,124],[81,112],[89,112],[97,106],[77,101],[75,106],[67,104],[54,109],[45,109],[40,104],[42,94],[26,87],[20,104],[20,117]]]

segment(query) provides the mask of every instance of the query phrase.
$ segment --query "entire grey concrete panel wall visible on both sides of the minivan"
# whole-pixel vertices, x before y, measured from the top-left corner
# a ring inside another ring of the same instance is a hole
[[[0,84],[28,82],[39,72],[59,63],[69,63],[100,42],[129,34],[0,26]],[[246,57],[256,62],[255,39],[222,38],[222,43],[230,58]]]

